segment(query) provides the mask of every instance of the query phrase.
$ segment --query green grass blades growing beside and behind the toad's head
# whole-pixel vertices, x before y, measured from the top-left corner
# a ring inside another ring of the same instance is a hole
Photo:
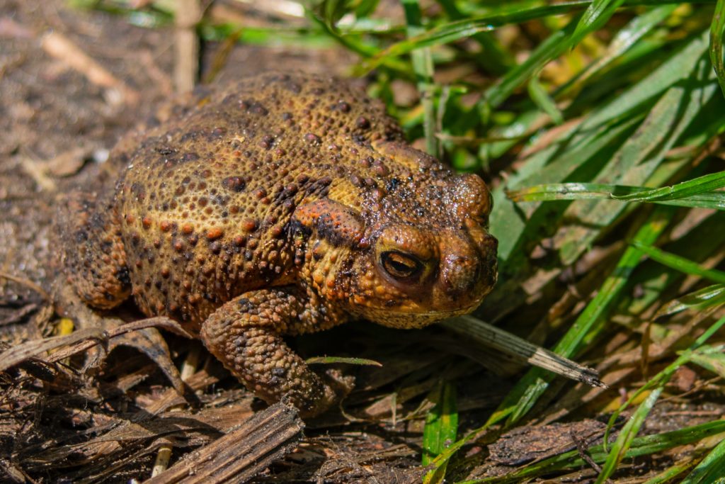
[[[168,2],[141,12],[123,0],[80,4],[152,27],[173,18]],[[500,319],[524,336],[534,332],[563,356],[601,363],[605,381],[608,361],[630,361],[626,376],[609,381],[631,390],[610,423],[625,411],[630,418],[616,440],[588,450],[602,464],[597,482],[616,482],[621,464],[636,456],[690,443],[698,443],[696,451],[651,471],[647,482],[706,483],[723,475],[724,422],[639,431],[683,365],[701,379],[725,377],[718,141],[725,131],[725,0],[402,0],[391,18],[378,15],[375,0],[305,5],[304,27],[204,20],[199,32],[207,40],[241,32],[245,43],[349,50],[358,59],[350,73],[370,75],[370,93],[384,99],[411,139],[492,181],[500,282],[476,316]],[[418,101],[395,104],[396,81],[415,86]],[[533,258],[542,247],[547,256]],[[542,310],[564,300],[557,281],[569,268],[605,249],[611,257],[596,266],[597,278],[579,275],[573,283],[576,311],[550,317]],[[532,308],[539,313],[532,316]],[[615,336],[622,343],[602,354]],[[642,358],[631,356],[636,351]],[[462,448],[493,430],[550,417],[557,398],[571,403],[558,410],[561,417],[581,419],[605,414],[607,397],[615,396],[596,394],[584,407],[576,395],[573,384],[529,369],[488,421],[463,435],[454,383],[442,383],[429,395],[436,405],[423,435],[426,482],[465,479]],[[584,465],[570,451],[467,482],[520,482]]]

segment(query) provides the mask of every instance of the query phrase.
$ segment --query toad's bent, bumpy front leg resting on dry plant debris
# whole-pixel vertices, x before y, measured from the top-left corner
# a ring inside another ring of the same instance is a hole
[[[255,395],[268,403],[288,395],[302,416],[322,413],[352,389],[352,377],[312,372],[282,340],[326,329],[344,316],[316,311],[294,289],[246,292],[202,324],[207,348]]]

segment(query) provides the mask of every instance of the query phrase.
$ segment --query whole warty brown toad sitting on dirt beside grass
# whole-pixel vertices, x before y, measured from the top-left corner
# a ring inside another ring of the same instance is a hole
[[[239,81],[114,156],[128,163],[115,194],[76,206],[67,231],[80,297],[133,295],[186,322],[257,395],[289,393],[306,414],[348,382],[281,335],[351,317],[422,327],[496,279],[484,182],[409,147],[382,104],[334,78]]]

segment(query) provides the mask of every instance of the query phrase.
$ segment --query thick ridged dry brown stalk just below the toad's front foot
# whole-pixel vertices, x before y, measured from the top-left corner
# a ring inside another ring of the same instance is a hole
[[[294,407],[276,403],[146,484],[244,482],[289,453],[304,427]]]

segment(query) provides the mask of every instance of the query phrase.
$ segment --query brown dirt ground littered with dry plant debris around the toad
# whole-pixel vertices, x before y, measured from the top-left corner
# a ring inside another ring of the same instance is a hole
[[[57,51],[59,39],[98,62],[117,83],[104,85],[79,73]],[[46,294],[56,276],[51,260],[58,250],[52,224],[58,197],[79,186],[107,189],[117,169],[104,163],[109,149],[170,97],[172,43],[170,28],[137,28],[121,16],[70,9],[62,0],[0,2],[1,348],[58,334]],[[204,67],[215,49],[206,46]],[[218,82],[282,65],[343,74],[353,61],[334,48],[239,45]],[[128,320],[140,318],[132,307],[122,313]],[[31,358],[0,373],[0,474],[5,475],[0,480],[146,480],[159,448],[173,448],[172,465],[193,458],[194,451],[264,408],[198,342],[163,334],[175,366],[199,355],[186,380],[194,390],[191,397],[178,395],[152,360],[123,345],[106,364],[88,371],[78,370],[84,360],[77,354],[54,366]],[[461,357],[471,351],[436,328],[402,332],[359,323],[299,338],[294,345],[305,356],[328,353],[334,346],[340,356],[372,358],[384,362],[384,369],[348,369],[357,376],[357,390],[344,413],[305,422],[304,437],[291,437],[290,448],[272,446],[273,458],[260,458],[265,466],[254,470],[254,482],[420,482],[426,470],[419,465],[420,417],[429,408],[421,397],[442,378],[457,380],[459,435],[465,435],[483,424],[511,385],[505,375]],[[675,416],[683,411],[689,412],[687,424],[696,424],[722,409],[693,403],[683,410],[677,402],[666,403],[658,406],[660,417],[651,419],[650,431],[682,426]],[[600,437],[600,422],[574,424],[581,427],[577,432],[592,435],[590,443]],[[468,446],[458,473],[495,475],[552,448],[571,446],[552,439],[573,431],[574,424],[556,424],[566,432],[540,427],[539,437],[531,434],[525,448],[515,435],[488,448],[485,443]],[[542,449],[539,454],[536,448]],[[281,450],[290,452],[284,456]],[[643,465],[658,467],[674,459]],[[588,482],[592,472],[584,469],[573,482]]]

